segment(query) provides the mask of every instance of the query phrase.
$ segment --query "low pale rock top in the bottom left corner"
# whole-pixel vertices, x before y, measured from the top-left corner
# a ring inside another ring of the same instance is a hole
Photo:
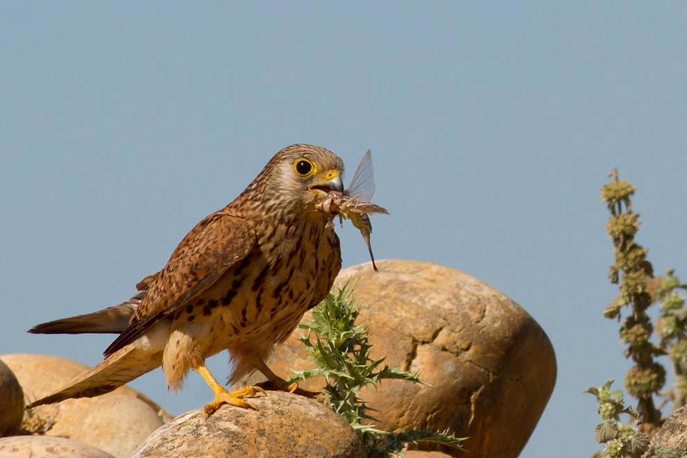
[[[114,458],[87,443],[49,436],[14,436],[0,439],[3,458]]]

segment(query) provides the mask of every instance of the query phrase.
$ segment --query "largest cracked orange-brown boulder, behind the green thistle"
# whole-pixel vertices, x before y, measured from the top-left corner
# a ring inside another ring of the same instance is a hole
[[[386,430],[447,428],[469,456],[514,458],[548,402],[556,380],[550,340],[525,310],[500,291],[445,266],[417,261],[360,264],[339,273],[337,283],[356,282],[362,301],[358,323],[366,323],[371,356],[389,366],[421,371],[427,387],[384,381],[361,397]],[[309,319],[306,316],[305,319]],[[299,331],[278,348],[269,366],[312,367]],[[246,380],[254,383],[261,376]],[[321,389],[323,380],[300,384]],[[450,448],[441,451],[457,456]]]

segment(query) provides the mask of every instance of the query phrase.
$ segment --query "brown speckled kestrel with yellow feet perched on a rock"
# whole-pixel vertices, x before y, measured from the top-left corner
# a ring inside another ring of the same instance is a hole
[[[136,285],[137,294],[98,312],[41,323],[33,334],[119,334],[103,362],[26,409],[107,393],[162,366],[170,390],[198,372],[214,393],[203,414],[222,405],[257,408],[259,386],[224,388],[205,359],[228,350],[232,384],[253,371],[272,387],[298,389],[265,364],[307,309],[321,302],[341,269],[331,214],[316,204],[343,192],[343,161],[320,146],[294,144],[276,153],[223,209],[198,223],[164,268]]]

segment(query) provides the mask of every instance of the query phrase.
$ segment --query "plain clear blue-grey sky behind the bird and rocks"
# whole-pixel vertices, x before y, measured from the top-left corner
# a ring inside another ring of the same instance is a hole
[[[25,330],[128,298],[283,147],[331,149],[348,179],[372,149],[376,257],[525,307],[559,375],[522,456],[591,455],[583,391],[629,367],[602,318],[613,167],[654,269],[687,278],[686,22],[681,2],[3,3],[0,354],[97,364],[112,337]],[[344,266],[368,260],[339,234]],[[211,394],[132,385],[173,414]]]

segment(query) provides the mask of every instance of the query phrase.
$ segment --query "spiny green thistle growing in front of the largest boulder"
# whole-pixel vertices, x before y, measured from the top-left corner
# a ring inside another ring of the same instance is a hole
[[[384,379],[402,379],[423,383],[418,373],[401,371],[400,368],[382,366],[384,358],[370,357],[371,344],[363,325],[355,325],[360,307],[353,299],[353,286],[348,284],[329,294],[312,309],[312,321],[298,325],[306,331],[300,341],[316,365],[314,369],[294,371],[289,382],[324,377],[327,384],[327,402],[330,407],[350,423],[367,448],[368,458],[405,457],[409,445],[432,442],[463,450],[461,442],[447,431],[432,432],[409,430],[386,432],[375,428],[369,421],[369,407],[358,397],[360,389],[368,385],[378,386]],[[363,423],[364,422],[364,423]]]

